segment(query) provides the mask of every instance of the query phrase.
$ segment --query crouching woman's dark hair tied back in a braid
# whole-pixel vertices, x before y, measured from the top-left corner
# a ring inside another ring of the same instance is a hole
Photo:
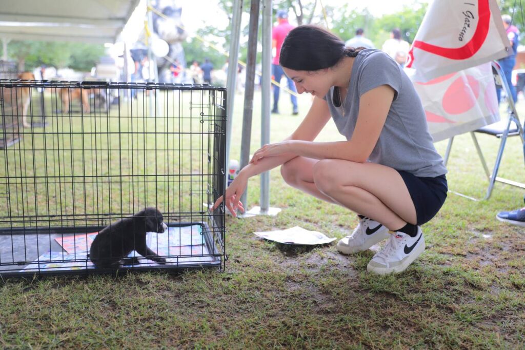
[[[281,46],[279,65],[293,70],[319,70],[335,66],[343,57],[355,57],[364,47],[346,47],[327,29],[314,25],[293,28]]]

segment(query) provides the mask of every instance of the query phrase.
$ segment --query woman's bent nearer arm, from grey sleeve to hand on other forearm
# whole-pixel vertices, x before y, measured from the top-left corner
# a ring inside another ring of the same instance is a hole
[[[262,147],[251,161],[258,164],[265,158],[289,152],[313,159],[345,159],[363,163],[370,157],[379,139],[393,99],[394,90],[387,85],[365,92],[359,100],[358,120],[352,138],[348,141],[285,140]]]

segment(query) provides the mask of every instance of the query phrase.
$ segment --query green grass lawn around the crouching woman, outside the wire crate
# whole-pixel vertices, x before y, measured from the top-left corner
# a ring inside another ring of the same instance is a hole
[[[254,101],[260,111],[260,94]],[[239,159],[243,95],[236,96],[232,158]],[[309,97],[299,99],[307,111]],[[518,102],[521,116],[525,101]],[[502,107],[503,108],[503,107]],[[272,141],[301,121],[288,96],[273,115]],[[503,109],[502,109],[503,110]],[[251,151],[260,145],[254,116]],[[330,123],[319,140],[341,139]],[[498,140],[478,137],[489,167]],[[436,143],[445,153],[446,141]],[[454,141],[449,188],[483,197],[488,184],[469,135]],[[525,179],[511,138],[501,177]],[[306,248],[260,240],[253,232],[300,225],[342,238],[354,214],[289,188],[270,172],[277,217],[226,220],[226,271],[129,273],[10,279],[0,285],[3,348],[523,348],[525,229],[496,220],[522,206],[524,191],[497,183],[488,201],[449,193],[423,227],[426,251],[405,272],[366,272],[366,251],[341,255],[335,242]],[[248,186],[258,205],[259,178]],[[337,242],[337,241],[336,241]]]

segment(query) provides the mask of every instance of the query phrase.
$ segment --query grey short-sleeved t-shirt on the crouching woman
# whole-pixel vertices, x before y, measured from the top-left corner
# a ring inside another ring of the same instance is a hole
[[[412,81],[403,69],[381,50],[365,49],[355,57],[348,93],[342,107],[332,102],[333,87],[324,99],[341,135],[352,138],[359,114],[359,99],[381,85],[394,89],[394,100],[369,161],[417,177],[436,177],[447,172],[443,158],[428,132],[425,110]]]

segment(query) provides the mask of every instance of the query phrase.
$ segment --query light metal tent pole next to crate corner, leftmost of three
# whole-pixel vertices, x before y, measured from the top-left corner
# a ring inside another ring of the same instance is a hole
[[[226,164],[224,164],[224,176],[228,176],[229,151],[232,142],[232,119],[235,97],[235,84],[237,77],[237,63],[239,59],[240,20],[243,15],[243,0],[235,0],[232,13],[232,35],[230,36],[230,48],[228,56],[228,78],[226,80]],[[228,179],[226,178],[226,183]]]

